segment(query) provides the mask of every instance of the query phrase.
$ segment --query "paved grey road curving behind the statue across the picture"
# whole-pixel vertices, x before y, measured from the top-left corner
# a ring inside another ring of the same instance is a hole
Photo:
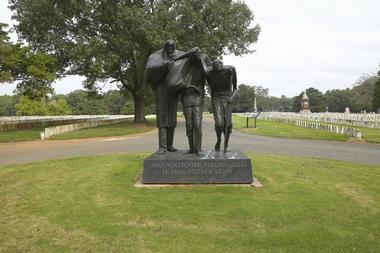
[[[203,149],[213,149],[215,139],[213,120],[204,118]],[[175,146],[187,149],[183,120],[179,121],[176,129]],[[112,138],[0,143],[0,165],[110,153],[153,152],[156,148],[157,131]],[[230,148],[244,152],[322,157],[380,165],[379,144],[282,139],[248,135],[234,130]]]

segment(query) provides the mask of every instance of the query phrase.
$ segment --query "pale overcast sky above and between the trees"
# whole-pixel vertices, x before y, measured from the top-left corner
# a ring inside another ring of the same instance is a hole
[[[238,83],[261,85],[273,96],[295,96],[308,87],[323,92],[351,87],[380,63],[379,0],[247,0],[262,32],[255,53],[225,56]],[[0,22],[10,23],[7,0]],[[81,78],[58,80],[57,93],[80,89]],[[105,89],[112,88],[109,84]],[[0,94],[14,85],[0,84]]]

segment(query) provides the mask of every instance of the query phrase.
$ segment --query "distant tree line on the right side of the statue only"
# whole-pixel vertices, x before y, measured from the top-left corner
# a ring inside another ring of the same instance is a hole
[[[377,75],[362,76],[351,88],[333,89],[325,93],[317,88],[306,89],[312,112],[344,112],[350,108],[353,113],[380,113],[380,71]],[[259,111],[299,112],[303,91],[298,96],[275,97],[269,95],[269,90],[262,86],[241,84],[233,104],[234,112],[251,112],[254,110],[254,97],[257,98]]]

